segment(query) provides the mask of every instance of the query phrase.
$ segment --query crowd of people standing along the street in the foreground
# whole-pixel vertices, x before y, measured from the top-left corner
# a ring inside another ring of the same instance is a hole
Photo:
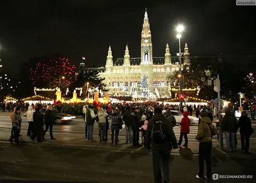
[[[188,147],[188,133],[190,119],[192,115],[189,108],[191,106],[184,106],[182,108],[183,118],[179,122],[180,136],[179,141],[173,132],[173,127],[176,126],[177,121],[172,115],[171,110],[175,106],[161,105],[157,103],[138,103],[138,104],[120,104],[108,105],[105,108],[95,106],[83,106],[83,119],[85,126],[86,140],[93,142],[93,128],[95,122],[99,125],[99,139],[100,142],[108,142],[108,130],[111,129],[111,144],[118,145],[120,129],[125,126],[125,143],[131,143],[136,147],[142,145],[145,149],[152,149],[153,168],[154,168],[154,182],[169,182],[169,157],[170,150],[177,148]],[[45,113],[41,113],[41,105],[29,106],[26,113],[26,119],[29,123],[27,135],[31,140],[37,138],[37,142],[44,140],[45,133],[50,128],[51,139],[52,124],[54,117],[52,113],[52,106],[47,106]],[[35,110],[35,112],[34,112]],[[196,112],[198,110],[198,113]],[[196,106],[193,112],[199,117],[198,132],[195,139],[199,142],[198,148],[198,166],[199,172],[196,175],[197,179],[211,179],[211,150],[212,137],[217,135],[218,129],[212,124],[214,114],[212,115],[211,108],[207,106]],[[122,113],[122,115],[121,115]],[[227,108],[225,116],[221,119],[221,126],[223,134],[227,141],[227,150],[230,152],[236,151],[236,132],[240,128],[241,135],[241,149],[248,152],[250,147],[250,135],[253,133],[251,119],[247,116],[247,112],[242,112],[241,117],[237,121],[234,113]],[[12,135],[10,142],[13,140],[19,144],[20,126],[22,117],[20,116],[20,107],[14,108],[11,114],[12,118]],[[45,128],[44,128],[45,123]],[[185,140],[182,145],[182,140]],[[161,174],[160,164],[162,161],[163,177]],[[207,166],[207,172],[204,176],[204,162]]]

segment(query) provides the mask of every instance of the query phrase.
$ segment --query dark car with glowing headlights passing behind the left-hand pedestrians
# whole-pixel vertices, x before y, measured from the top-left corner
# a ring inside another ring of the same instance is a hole
[[[45,114],[46,108],[42,108],[41,112]],[[56,109],[52,109],[54,112],[54,124],[67,124],[68,122],[71,122],[72,119],[75,119],[76,116],[70,115],[67,113],[61,113]]]

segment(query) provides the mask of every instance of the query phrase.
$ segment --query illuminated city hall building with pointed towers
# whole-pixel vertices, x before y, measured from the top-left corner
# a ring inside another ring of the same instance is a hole
[[[188,45],[184,48],[182,65],[189,64]],[[91,68],[93,69],[93,68]],[[95,70],[96,68],[94,68]],[[108,50],[105,68],[97,68],[100,78],[105,78],[106,88],[111,96],[131,96],[141,92],[141,79],[147,76],[148,89],[155,94],[156,88],[161,97],[169,96],[166,77],[172,71],[179,71],[179,57],[171,57],[168,44],[164,57],[153,57],[152,36],[147,10],[141,31],[141,56],[130,57],[128,45],[122,59],[113,62],[111,47]]]

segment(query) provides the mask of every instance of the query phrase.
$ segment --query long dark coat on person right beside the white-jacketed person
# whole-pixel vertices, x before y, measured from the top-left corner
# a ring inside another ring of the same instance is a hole
[[[33,135],[44,135],[44,117],[40,112],[33,115]]]

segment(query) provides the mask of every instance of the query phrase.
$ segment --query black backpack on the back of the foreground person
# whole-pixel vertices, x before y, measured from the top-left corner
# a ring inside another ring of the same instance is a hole
[[[162,121],[155,121],[152,131],[151,139],[156,143],[163,143],[166,140],[166,128],[164,128]]]

